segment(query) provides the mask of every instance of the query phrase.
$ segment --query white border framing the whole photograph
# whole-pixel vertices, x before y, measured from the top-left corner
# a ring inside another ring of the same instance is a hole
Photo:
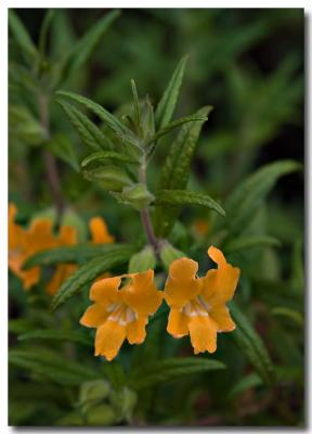
[[[306,18],[309,17],[309,23],[308,18],[306,21],[306,26],[309,27],[306,28],[306,92],[307,92],[307,111],[306,111],[306,230],[307,230],[307,237],[306,237],[306,248],[307,248],[307,254],[306,254],[306,270],[307,270],[307,291],[308,288],[310,290],[311,288],[311,273],[308,270],[311,270],[311,258],[310,255],[308,254],[308,248],[311,245],[311,232],[310,232],[310,191],[311,191],[311,177],[309,176],[308,170],[311,168],[311,152],[309,151],[311,144],[311,127],[309,128],[309,122],[311,122],[311,94],[309,92],[310,90],[310,85],[311,85],[311,47],[312,47],[312,40],[311,40],[311,11],[312,11],[312,2],[308,1],[288,1],[288,0],[283,0],[283,1],[253,1],[252,3],[249,1],[209,1],[209,0],[193,0],[191,1],[183,1],[183,0],[171,0],[170,2],[167,1],[142,1],[142,0],[136,0],[134,2],[129,2],[129,1],[112,1],[112,0],[106,0],[106,1],[101,1],[101,0],[89,0],[88,2],[86,1],[80,1],[80,0],[73,0],[73,1],[47,1],[47,0],[41,0],[40,3],[38,1],[22,1],[22,0],[15,0],[15,1],[1,1],[0,5],[0,41],[1,41],[1,63],[0,63],[0,77],[1,77],[1,86],[0,86],[0,107],[1,107],[1,151],[0,151],[0,165],[1,165],[1,170],[0,170],[0,193],[1,193],[1,206],[0,206],[0,240],[1,240],[1,267],[0,267],[0,282],[1,289],[1,298],[0,298],[0,321],[1,321],[1,327],[0,327],[0,332],[1,332],[1,399],[0,399],[0,433],[8,433],[8,432],[26,432],[26,430],[14,430],[8,427],[8,272],[6,272],[6,237],[8,237],[8,231],[6,231],[6,225],[8,225],[8,212],[6,212],[6,203],[8,203],[8,8],[181,8],[181,9],[186,9],[186,8],[247,8],[247,9],[252,9],[252,8],[304,8],[306,10]],[[310,74],[308,75],[308,72]],[[310,116],[309,116],[310,115]],[[311,315],[311,295],[307,297],[307,301],[309,302],[309,311],[307,311],[307,319]],[[306,328],[306,348],[311,348],[311,324],[312,321],[308,321],[308,326]],[[307,352],[308,353],[308,352]],[[310,356],[310,355],[309,355]],[[308,403],[306,403],[306,409],[307,409],[307,416],[312,414],[312,404],[311,404],[311,379],[310,379],[310,370],[311,369],[311,362],[309,367],[309,359],[306,358],[306,369],[307,369],[307,382],[309,382],[309,390],[306,392],[306,399]],[[307,387],[308,388],[308,387]],[[308,417],[309,421],[311,420],[311,417]],[[73,430],[65,430],[65,429],[56,429],[58,433],[67,433],[67,432],[83,432],[83,433],[93,433],[94,431],[99,432],[98,430],[91,430],[91,429],[83,429],[83,430],[78,430],[78,429],[73,429]],[[101,431],[104,432],[109,432],[109,429],[100,429]],[[222,433],[222,432],[229,432],[230,430],[213,430],[213,429],[204,429],[205,431],[209,431],[209,433]],[[51,427],[50,430],[51,431]],[[122,430],[121,427],[119,429],[112,429],[112,432],[121,432],[126,431]],[[129,430],[130,431],[130,430]],[[132,429],[132,431],[142,431],[138,429]],[[144,430],[143,430],[144,431]],[[147,431],[147,430],[146,430]],[[168,429],[148,429],[148,431],[161,431],[164,433],[169,433],[173,430],[168,430]],[[180,429],[179,429],[180,431]],[[181,430],[182,431],[182,430]],[[195,430],[184,430],[183,432],[192,432]],[[197,431],[197,430],[196,430]],[[200,430],[203,431],[203,430]],[[231,430],[235,431],[235,430]],[[242,429],[237,427],[236,431],[246,431],[248,433],[258,433],[260,430],[249,430],[249,429]],[[302,430],[288,430],[288,429],[281,429],[281,430],[271,430],[271,429],[264,429],[262,430],[265,433],[270,432],[302,432]],[[34,431],[31,429],[27,429],[27,433],[40,433],[40,432],[48,432],[48,430],[43,429],[37,429]],[[307,430],[306,430],[307,432]],[[308,432],[312,432],[311,426],[309,426]]]

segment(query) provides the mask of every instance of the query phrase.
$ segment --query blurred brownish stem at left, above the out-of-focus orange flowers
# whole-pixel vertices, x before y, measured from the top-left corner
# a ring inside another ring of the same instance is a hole
[[[46,139],[49,140],[51,137],[50,133],[50,114],[49,114],[49,98],[46,94],[40,95],[39,98],[39,107],[40,107],[40,118],[41,125],[46,131]],[[62,214],[65,201],[62,194],[62,188],[60,183],[60,176],[57,170],[56,161],[54,155],[52,155],[49,151],[43,150],[43,163],[46,167],[46,176],[50,186],[51,195],[53,202],[56,206],[58,215]]]

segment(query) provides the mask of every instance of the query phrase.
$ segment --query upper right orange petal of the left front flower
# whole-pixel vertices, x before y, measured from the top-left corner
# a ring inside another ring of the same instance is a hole
[[[132,279],[121,290],[123,302],[140,316],[153,315],[162,301],[162,293],[154,284],[154,270],[123,277]]]

